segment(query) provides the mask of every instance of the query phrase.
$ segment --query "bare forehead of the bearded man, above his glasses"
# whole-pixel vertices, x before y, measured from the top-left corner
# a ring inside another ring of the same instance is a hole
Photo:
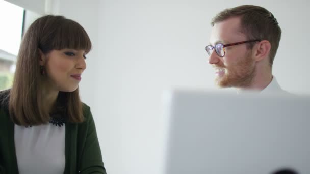
[[[210,44],[239,42],[245,39],[244,33],[241,32],[240,18],[233,17],[224,21],[217,22],[212,27]]]

